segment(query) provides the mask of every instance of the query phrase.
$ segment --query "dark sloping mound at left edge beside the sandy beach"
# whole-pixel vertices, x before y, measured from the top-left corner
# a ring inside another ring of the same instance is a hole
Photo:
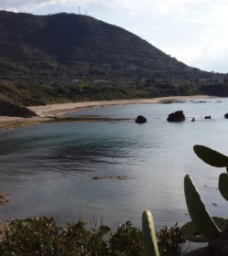
[[[36,116],[36,113],[30,111],[26,107],[21,107],[11,102],[0,101],[0,115],[18,116],[18,117],[27,118],[27,117]]]

